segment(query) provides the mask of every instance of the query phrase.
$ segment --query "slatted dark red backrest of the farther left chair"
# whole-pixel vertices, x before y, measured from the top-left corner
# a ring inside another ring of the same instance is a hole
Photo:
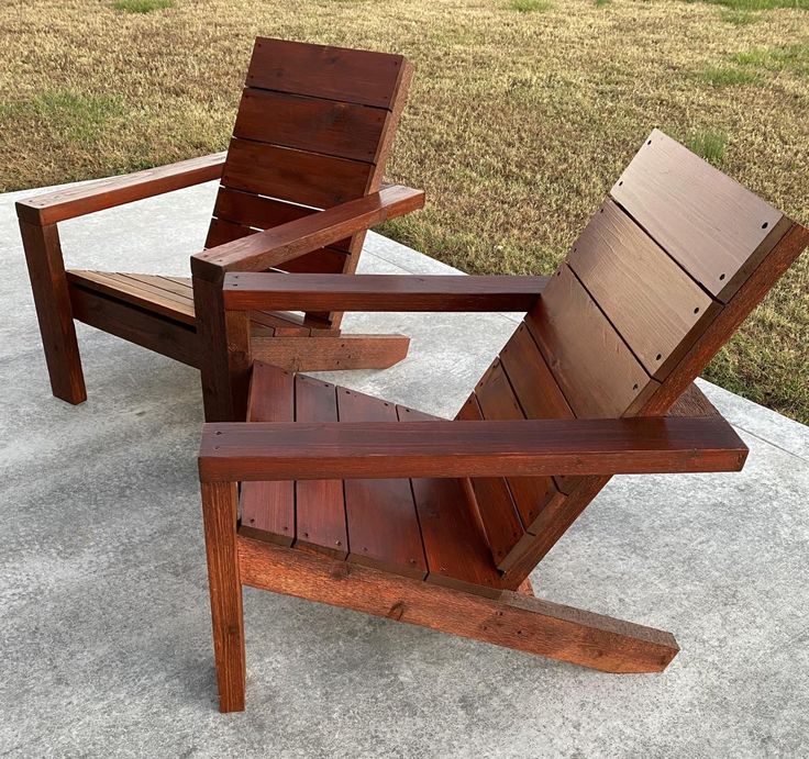
[[[214,247],[376,192],[407,99],[400,55],[258,37],[206,242]],[[288,261],[353,274],[365,234]],[[307,314],[336,327],[337,314]]]

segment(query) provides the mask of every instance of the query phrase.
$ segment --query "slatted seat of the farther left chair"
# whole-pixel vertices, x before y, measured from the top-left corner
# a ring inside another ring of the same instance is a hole
[[[67,280],[71,287],[92,290],[149,313],[196,326],[190,277],[69,269]],[[254,332],[266,336],[274,334],[307,336],[312,332],[303,325],[302,316],[295,313],[261,311],[254,312],[252,320]]]

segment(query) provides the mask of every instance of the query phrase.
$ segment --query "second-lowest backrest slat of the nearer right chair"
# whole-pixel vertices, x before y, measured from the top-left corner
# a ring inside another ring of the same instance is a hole
[[[495,420],[524,420],[508,377],[499,360],[496,360],[483,379],[475,386],[475,395],[483,417]],[[528,532],[545,504],[556,494],[551,477],[509,477],[511,491],[522,524]]]

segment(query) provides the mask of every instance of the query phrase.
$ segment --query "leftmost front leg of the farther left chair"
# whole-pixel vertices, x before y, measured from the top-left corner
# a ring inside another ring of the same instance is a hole
[[[73,322],[70,293],[56,224],[41,226],[20,220],[25,260],[34,293],[51,389],[68,403],[87,400],[85,376]]]

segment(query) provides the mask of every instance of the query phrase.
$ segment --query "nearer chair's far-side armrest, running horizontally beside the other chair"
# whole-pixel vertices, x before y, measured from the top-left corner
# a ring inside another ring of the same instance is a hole
[[[522,311],[550,277],[228,274],[232,311]]]

